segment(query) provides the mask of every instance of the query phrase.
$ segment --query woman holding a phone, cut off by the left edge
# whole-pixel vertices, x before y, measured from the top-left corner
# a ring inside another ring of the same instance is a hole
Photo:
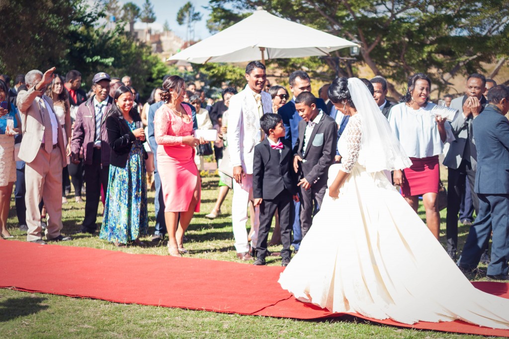
[[[16,108],[9,101],[7,84],[0,79],[0,226],[2,238],[14,238],[7,230],[12,186],[16,181],[14,135],[20,133]]]

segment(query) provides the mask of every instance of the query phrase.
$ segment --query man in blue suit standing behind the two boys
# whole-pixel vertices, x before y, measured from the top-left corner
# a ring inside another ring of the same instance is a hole
[[[295,98],[302,92],[311,92],[311,80],[309,75],[304,71],[295,71],[290,74],[290,91],[293,93],[292,100],[288,101],[284,106],[277,110],[277,113],[283,120],[285,126],[285,138],[292,142],[292,147],[295,147],[297,138],[299,136],[299,122],[302,118],[299,112],[295,109]],[[318,98],[316,101],[317,108],[327,111],[327,106],[323,99]],[[293,243],[292,246],[295,252],[299,250],[300,241],[302,240],[301,227],[300,227],[300,203],[295,203],[295,220],[293,222]]]

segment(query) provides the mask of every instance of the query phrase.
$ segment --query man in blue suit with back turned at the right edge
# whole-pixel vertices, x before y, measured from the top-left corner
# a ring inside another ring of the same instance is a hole
[[[493,231],[487,277],[509,280],[509,88],[495,86],[488,92],[489,104],[472,122],[477,149],[474,190],[479,213],[470,227],[458,266],[466,274],[476,269]]]

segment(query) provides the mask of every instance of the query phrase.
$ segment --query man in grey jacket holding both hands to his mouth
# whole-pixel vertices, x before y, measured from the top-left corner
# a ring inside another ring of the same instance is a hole
[[[479,211],[479,200],[474,192],[475,170],[477,167],[477,153],[472,141],[472,121],[483,110],[486,98],[483,96],[486,78],[481,74],[470,74],[467,78],[465,95],[454,99],[450,108],[459,112],[451,127],[456,140],[450,143],[449,151],[443,164],[448,167],[448,195],[447,195],[447,253],[456,261],[458,246],[458,213],[462,194],[465,191],[465,177],[468,177],[472,202],[475,213]]]

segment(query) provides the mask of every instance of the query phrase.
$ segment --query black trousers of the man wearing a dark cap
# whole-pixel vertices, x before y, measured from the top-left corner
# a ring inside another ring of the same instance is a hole
[[[97,210],[99,201],[101,200],[101,185],[104,194],[107,194],[109,165],[101,165],[101,150],[94,148],[91,165],[84,165],[85,184],[87,192],[85,194],[87,201],[85,202],[85,218],[81,226],[82,232],[95,232],[97,229]]]

